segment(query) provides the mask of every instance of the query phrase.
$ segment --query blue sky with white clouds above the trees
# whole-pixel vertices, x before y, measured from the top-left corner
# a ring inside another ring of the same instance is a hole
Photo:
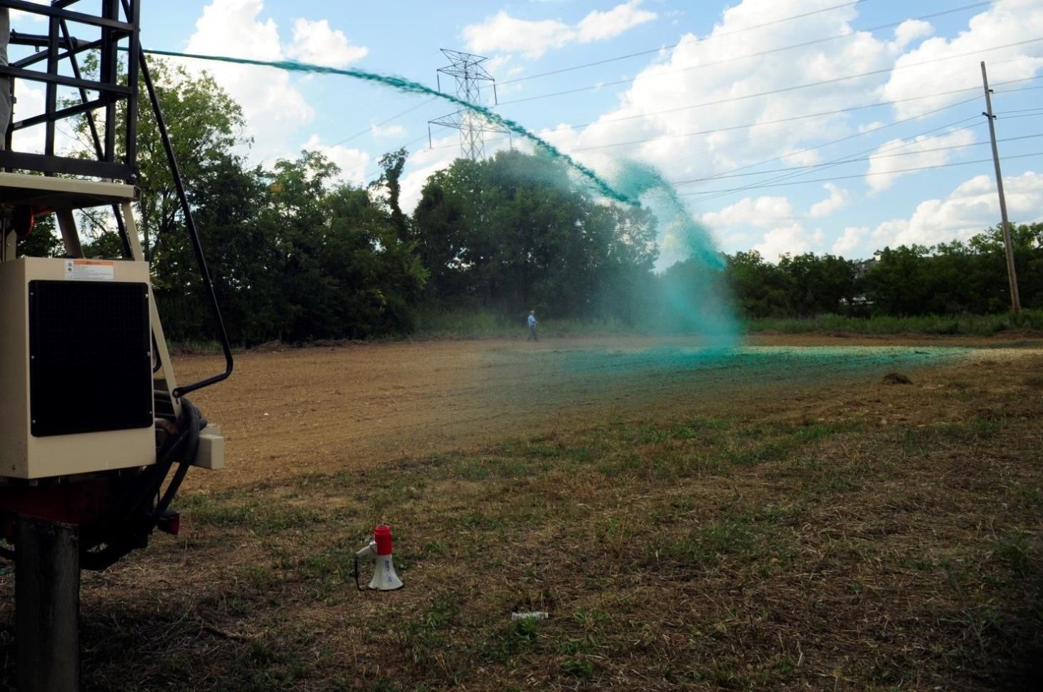
[[[915,19],[927,15],[938,16]],[[677,186],[692,214],[723,249],[757,248],[773,261],[808,250],[868,256],[998,222],[991,163],[968,163],[990,156],[980,144],[984,59],[1003,114],[999,138],[1023,138],[1000,144],[1012,220],[1043,220],[1043,156],[1035,154],[1043,138],[1033,138],[1043,134],[1043,0],[184,0],[144,4],[143,42],[430,85],[445,64],[439,48],[480,53],[500,84],[501,114],[599,171],[625,156],[670,180],[711,178]],[[635,52],[646,54],[613,59]],[[345,179],[364,182],[383,152],[408,144],[411,205],[427,176],[458,153],[452,130],[436,130],[428,148],[428,121],[447,104],[339,77],[191,68],[212,70],[243,103],[257,162],[319,149]],[[867,72],[877,74],[847,78]],[[817,81],[829,83],[792,89]],[[581,91],[545,96],[569,90]],[[778,93],[757,96],[768,91]],[[880,102],[891,103],[857,108]],[[489,139],[489,151],[507,146]],[[819,168],[786,170],[778,182],[815,181],[760,187],[783,174],[760,172],[798,166]],[[895,172],[927,166],[946,167]],[[670,245],[663,239],[668,256]]]

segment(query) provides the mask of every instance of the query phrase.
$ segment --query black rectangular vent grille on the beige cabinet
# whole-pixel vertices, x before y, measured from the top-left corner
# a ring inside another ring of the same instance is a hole
[[[29,281],[35,437],[151,427],[148,285]]]

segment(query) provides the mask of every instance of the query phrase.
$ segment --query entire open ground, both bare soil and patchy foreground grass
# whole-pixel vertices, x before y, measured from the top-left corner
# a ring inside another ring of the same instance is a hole
[[[227,469],[84,573],[86,689],[1043,681],[1036,335],[272,348],[194,398]],[[359,592],[385,521],[406,588]]]

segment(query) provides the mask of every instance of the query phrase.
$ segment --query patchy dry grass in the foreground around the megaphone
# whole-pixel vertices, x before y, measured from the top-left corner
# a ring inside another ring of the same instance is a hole
[[[84,574],[84,687],[1034,689],[1041,365],[188,492]],[[360,593],[378,521],[406,588]]]

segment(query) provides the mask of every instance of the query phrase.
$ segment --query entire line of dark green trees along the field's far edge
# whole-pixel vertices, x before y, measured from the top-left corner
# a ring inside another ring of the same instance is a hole
[[[635,328],[698,328],[695,289],[726,292],[739,316],[809,317],[994,313],[1009,305],[1000,233],[933,248],[884,248],[869,262],[805,253],[778,263],[756,251],[726,255],[723,272],[695,261],[664,272],[657,221],[608,204],[559,162],[502,151],[457,159],[402,208],[408,152],[383,156],[361,187],[317,152],[250,166],[239,105],[209,76],[153,68],[215,291],[238,345],[270,340],[364,339],[409,333],[422,311],[530,310]],[[142,100],[146,102],[145,99]],[[79,123],[84,155],[88,124]],[[139,125],[141,201],[136,215],[168,338],[209,340],[214,329],[173,181],[148,113]],[[92,256],[120,256],[104,212],[81,220]],[[1043,301],[1043,224],[1014,229],[1025,305]],[[62,253],[41,224],[30,254]]]

